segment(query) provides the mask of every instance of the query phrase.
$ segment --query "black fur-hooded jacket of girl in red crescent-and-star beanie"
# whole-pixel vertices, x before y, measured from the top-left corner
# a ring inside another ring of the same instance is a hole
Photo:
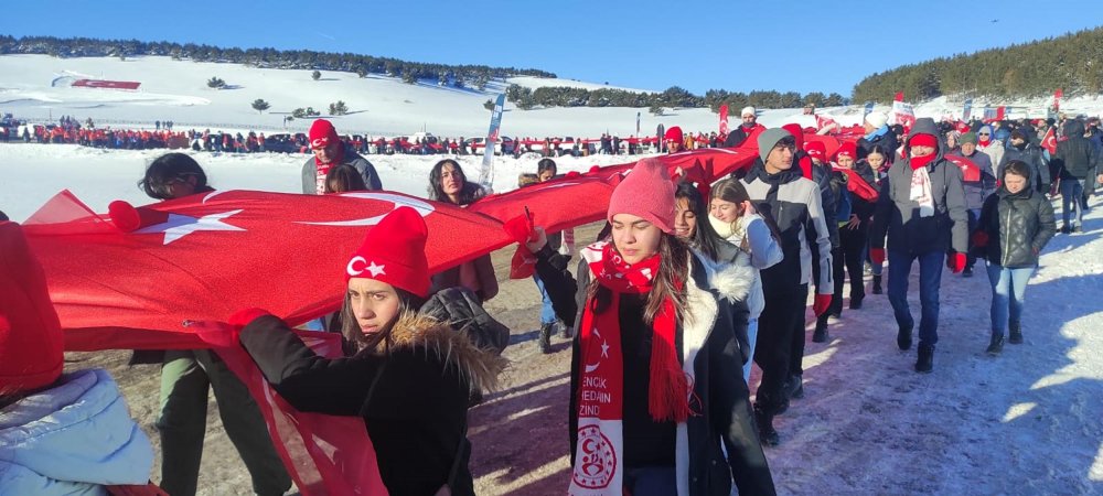
[[[447,322],[404,314],[386,349],[347,358],[315,355],[280,319],[257,317],[242,345],[265,378],[302,411],[364,418],[390,494],[473,495],[468,470],[471,393],[492,389],[505,367]]]

